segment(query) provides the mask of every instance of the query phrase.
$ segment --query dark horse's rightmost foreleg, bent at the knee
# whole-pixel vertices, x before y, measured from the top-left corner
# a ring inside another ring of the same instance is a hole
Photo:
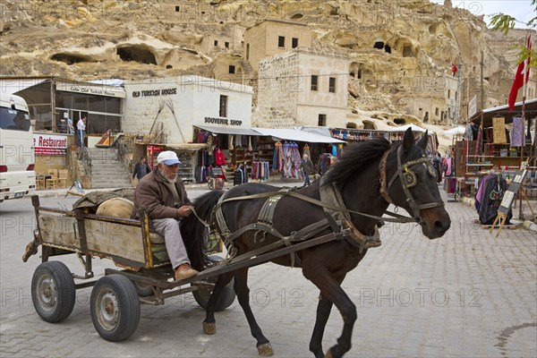
[[[328,271],[319,272],[319,270],[317,270],[316,273],[317,274],[313,277],[306,277],[309,278],[315,286],[319,287],[320,294],[322,294],[323,298],[326,298],[329,302],[336,305],[337,310],[339,310],[343,317],[343,332],[341,333],[341,336],[337,338],[337,345],[332,346],[326,354],[327,357],[339,358],[351,349],[351,338],[353,336],[354,321],[356,320],[356,306],[347,294],[345,294],[345,291],[341,288],[337,279],[330,276]],[[326,325],[326,321],[324,324]],[[322,329],[324,331],[324,325]]]

